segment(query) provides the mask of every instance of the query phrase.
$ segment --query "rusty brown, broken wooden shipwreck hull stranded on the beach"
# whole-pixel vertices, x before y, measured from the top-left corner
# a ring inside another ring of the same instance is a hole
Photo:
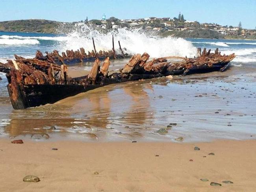
[[[223,72],[236,56],[235,54],[221,55],[218,49],[211,53],[211,50],[206,51],[206,48],[203,51],[198,48],[198,57],[194,58],[171,56],[149,61],[150,55],[147,53],[135,54],[124,68],[110,74],[108,72],[110,57],[112,55],[113,59],[117,58],[114,47],[109,53],[111,55],[102,55],[103,52],[96,52],[94,45],[92,57],[95,63],[90,73],[78,78],[70,77],[65,58],[72,60],[73,57],[81,57],[83,54],[84,52],[81,50],[80,54],[67,52],[67,55],[60,56],[57,51],[54,51],[51,54],[46,52],[46,56],[43,56],[41,52],[37,51],[36,57],[33,59],[15,55],[15,60],[9,60],[6,64],[0,63],[0,71],[6,72],[7,89],[13,108],[26,109],[55,103],[69,96],[112,83],[169,75]],[[123,52],[122,55],[124,56]],[[104,63],[100,66],[102,57],[104,57]],[[167,59],[180,59],[181,61],[171,62]]]

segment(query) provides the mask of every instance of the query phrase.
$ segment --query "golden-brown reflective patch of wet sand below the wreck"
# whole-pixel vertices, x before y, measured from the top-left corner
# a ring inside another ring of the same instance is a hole
[[[96,139],[99,135],[143,137],[138,130],[151,124],[154,117],[146,90],[154,91],[148,83],[122,83],[66,98],[54,105],[13,110],[5,133],[10,137],[54,132],[74,132]]]

